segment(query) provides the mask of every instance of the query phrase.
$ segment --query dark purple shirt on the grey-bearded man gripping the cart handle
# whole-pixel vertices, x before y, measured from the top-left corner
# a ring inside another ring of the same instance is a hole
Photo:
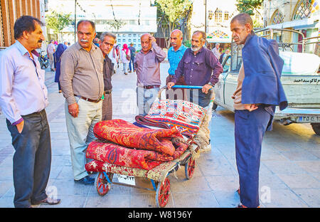
[[[223,73],[223,68],[210,50],[201,48],[194,55],[191,48],[188,48],[171,80],[176,83],[176,80],[183,75],[187,85],[203,86],[209,82],[215,85],[218,83],[220,73]]]

